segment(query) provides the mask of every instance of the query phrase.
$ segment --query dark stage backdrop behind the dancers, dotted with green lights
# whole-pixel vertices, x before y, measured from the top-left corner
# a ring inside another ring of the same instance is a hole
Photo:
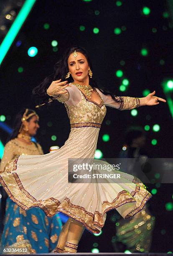
[[[148,6],[150,15],[142,15],[142,8]],[[99,15],[95,15],[99,10]],[[37,86],[47,75],[53,72],[53,64],[69,46],[82,46],[89,52],[93,62],[94,79],[98,84],[120,96],[142,97],[142,91],[148,88],[156,95],[165,97],[161,83],[163,79],[173,79],[173,29],[171,16],[163,18],[163,12],[169,11],[166,0],[130,0],[122,1],[117,7],[115,0],[38,0],[33,7],[23,28],[20,30],[10,51],[0,69],[0,115],[5,115],[8,125],[12,125],[13,116],[21,107],[34,109],[31,98],[33,87]],[[43,25],[50,24],[45,30]],[[84,31],[79,26],[85,26]],[[126,30],[120,35],[114,34],[114,28],[125,26]],[[94,34],[93,28],[99,28]],[[153,33],[152,28],[157,32]],[[21,40],[20,47],[16,42]],[[58,51],[53,51],[51,41],[58,41]],[[38,54],[29,57],[28,48],[36,46]],[[142,56],[140,50],[147,47],[148,56]],[[165,61],[160,65],[160,59]],[[121,66],[120,61],[125,65]],[[23,67],[23,72],[18,72]],[[126,92],[120,92],[121,79],[115,76],[117,69],[122,69],[124,77],[130,80]],[[151,157],[172,158],[173,153],[173,120],[167,103],[160,103],[155,107],[137,109],[138,115],[132,117],[130,111],[118,111],[108,108],[102,124],[97,148],[103,152],[105,158],[117,157],[124,143],[127,127],[130,125],[146,124],[160,125],[160,131],[147,132],[147,146]],[[57,102],[49,108],[38,111],[40,116],[40,130],[38,141],[48,153],[50,146],[62,146],[70,132],[69,120],[64,105]],[[110,120],[110,125],[106,121]],[[48,126],[48,121],[52,126]],[[102,141],[102,135],[108,133],[110,141]],[[52,141],[51,136],[57,140]],[[0,140],[5,144],[8,134],[0,130]],[[157,145],[151,140],[156,138]],[[148,184],[148,190],[154,185]],[[172,185],[161,184],[158,193],[153,196],[149,204],[156,217],[155,230],[151,251],[168,252],[173,250],[172,212],[165,209],[165,203],[172,201]],[[79,251],[90,251],[93,243],[99,244],[100,252],[113,252],[111,243],[115,235],[115,223],[111,222],[114,212],[107,214],[103,234],[95,237],[85,231],[81,239]],[[161,232],[165,230],[166,232]],[[162,235],[162,233],[165,233]]]

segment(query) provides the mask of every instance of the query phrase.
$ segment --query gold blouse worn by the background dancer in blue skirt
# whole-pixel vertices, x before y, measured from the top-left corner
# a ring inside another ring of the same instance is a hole
[[[38,146],[38,147],[37,147]],[[31,145],[14,138],[5,145],[4,155],[0,162],[0,171],[3,172],[5,165],[16,155],[43,155],[43,150],[39,143],[32,142]]]

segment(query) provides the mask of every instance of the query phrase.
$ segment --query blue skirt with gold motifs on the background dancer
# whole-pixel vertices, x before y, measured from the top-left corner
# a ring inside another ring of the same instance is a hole
[[[48,218],[38,207],[25,211],[8,197],[1,247],[13,248],[13,251],[22,247],[27,253],[48,253],[57,246],[61,229],[58,214]]]

